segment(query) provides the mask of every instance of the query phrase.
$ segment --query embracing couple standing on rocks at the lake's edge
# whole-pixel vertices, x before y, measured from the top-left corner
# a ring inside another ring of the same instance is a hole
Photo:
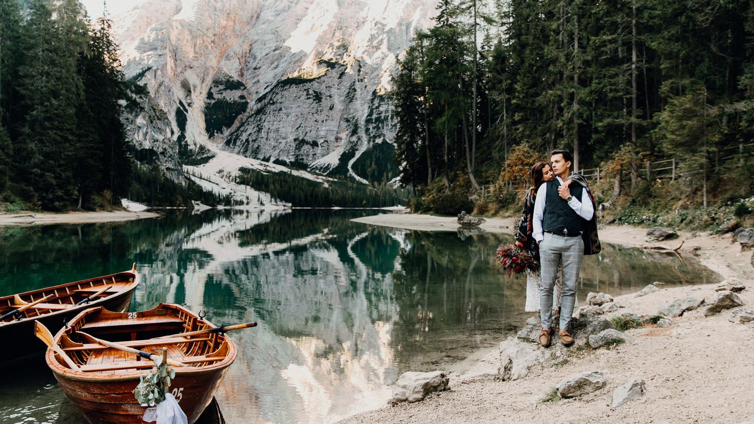
[[[553,337],[553,306],[557,309],[558,305],[558,336],[565,346],[574,342],[569,324],[576,306],[581,260],[584,255],[599,252],[594,198],[586,178],[571,174],[572,161],[568,151],[553,150],[550,163],[532,166],[533,186],[526,195],[515,235],[516,244],[541,264],[540,275],[527,277],[526,311],[539,310],[539,343],[545,347],[550,346]]]

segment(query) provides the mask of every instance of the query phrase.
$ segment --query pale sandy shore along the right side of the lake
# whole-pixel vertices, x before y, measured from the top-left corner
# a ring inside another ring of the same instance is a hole
[[[455,218],[430,215],[375,215],[354,221],[413,230],[455,230]],[[518,218],[487,218],[482,228],[513,233]],[[754,309],[750,278],[752,252],[741,252],[731,235],[697,236],[647,243],[645,228],[608,225],[599,230],[602,243],[622,246],[665,246],[681,255],[694,255],[723,279],[747,285],[738,293],[743,308]],[[653,282],[648,281],[647,284]],[[642,297],[615,298],[623,308],[605,314],[657,315],[679,297],[711,300],[714,285],[662,288]],[[514,381],[498,380],[500,353],[486,352],[469,371],[450,375],[450,390],[428,395],[424,401],[385,405],[342,422],[754,422],[754,322],[736,324],[730,310],[705,317],[704,306],[673,318],[673,324],[627,330],[626,343],[609,349],[572,347],[561,357],[548,358]],[[534,316],[534,314],[532,314]],[[503,341],[503,340],[501,340]],[[531,346],[536,346],[534,343]],[[543,349],[549,356],[555,347]],[[541,398],[566,377],[584,371],[605,371],[606,386],[578,398],[541,403]],[[645,380],[641,398],[610,406],[614,390],[633,377]]]

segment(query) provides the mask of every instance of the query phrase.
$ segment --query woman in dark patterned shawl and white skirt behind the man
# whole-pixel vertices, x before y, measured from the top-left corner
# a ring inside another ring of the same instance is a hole
[[[539,186],[547,181],[552,181],[555,178],[553,170],[550,169],[550,165],[547,162],[535,163],[532,166],[532,187],[526,192],[526,200],[523,204],[523,212],[521,214],[521,221],[519,222],[519,230],[513,236],[516,239],[516,246],[523,246],[532,258],[535,258],[539,262],[539,246],[532,236],[534,230],[532,224],[532,216],[534,215],[534,202],[537,197],[537,191]],[[570,185],[571,180],[566,181],[566,186]],[[562,276],[561,271],[558,270],[558,279],[555,282],[555,288],[553,291],[553,310],[557,310],[560,307],[560,298],[562,297]],[[528,273],[526,275],[526,312],[539,312],[539,285],[542,282],[540,273]],[[578,306],[578,305],[576,305]]]

